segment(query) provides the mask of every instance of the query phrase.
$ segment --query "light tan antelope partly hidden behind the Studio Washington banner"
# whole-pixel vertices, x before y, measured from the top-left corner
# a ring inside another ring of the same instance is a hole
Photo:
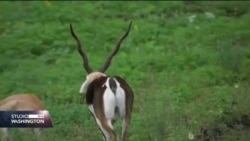
[[[44,110],[41,100],[33,94],[16,94],[0,101],[0,111],[35,111]],[[20,128],[21,129],[21,128]],[[2,128],[2,141],[9,141],[9,129]],[[24,130],[24,129],[21,129]],[[40,135],[40,129],[33,129],[36,136]]]

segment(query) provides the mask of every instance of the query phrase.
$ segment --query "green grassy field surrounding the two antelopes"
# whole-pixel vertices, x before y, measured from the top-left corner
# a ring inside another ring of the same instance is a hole
[[[249,8],[232,1],[0,2],[0,98],[34,93],[43,100],[54,128],[43,129],[41,141],[101,140],[79,94],[86,72],[69,24],[97,70],[132,20],[107,71],[135,92],[129,140],[247,141]]]

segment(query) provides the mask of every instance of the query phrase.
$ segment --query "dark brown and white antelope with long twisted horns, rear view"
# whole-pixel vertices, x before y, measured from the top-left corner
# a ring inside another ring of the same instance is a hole
[[[111,64],[112,58],[119,51],[122,41],[128,36],[132,22],[126,33],[120,38],[113,52],[108,56],[99,71],[94,72],[88,64],[88,58],[82,50],[80,40],[70,24],[71,34],[77,42],[77,49],[83,59],[83,67],[88,73],[85,82],[81,85],[80,93],[86,94],[86,103],[96,123],[103,134],[105,141],[118,141],[118,135],[113,124],[122,118],[122,140],[127,140],[127,128],[130,124],[134,94],[129,84],[119,76],[108,76],[104,72]]]

